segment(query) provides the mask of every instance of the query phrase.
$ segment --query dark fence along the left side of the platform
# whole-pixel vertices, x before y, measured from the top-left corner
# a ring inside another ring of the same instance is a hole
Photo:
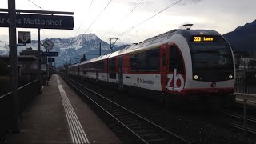
[[[38,95],[39,81],[34,80],[18,88],[19,114],[30,105],[33,98]],[[6,133],[10,130],[12,122],[12,93],[0,96],[0,143],[4,140]]]

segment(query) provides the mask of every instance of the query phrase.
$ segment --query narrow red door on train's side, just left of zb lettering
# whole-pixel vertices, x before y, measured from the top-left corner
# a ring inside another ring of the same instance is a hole
[[[166,92],[166,81],[167,81],[167,50],[165,46],[160,48],[160,58],[161,58],[161,86],[162,92]]]

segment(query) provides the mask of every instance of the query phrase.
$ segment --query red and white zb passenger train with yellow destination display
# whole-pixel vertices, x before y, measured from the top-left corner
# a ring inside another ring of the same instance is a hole
[[[170,30],[71,65],[67,72],[168,102],[232,103],[235,99],[234,53],[215,30]]]

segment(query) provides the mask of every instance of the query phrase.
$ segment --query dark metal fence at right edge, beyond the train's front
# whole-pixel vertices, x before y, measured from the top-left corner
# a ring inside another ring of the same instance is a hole
[[[256,78],[236,78],[234,91],[237,93],[256,94]]]

